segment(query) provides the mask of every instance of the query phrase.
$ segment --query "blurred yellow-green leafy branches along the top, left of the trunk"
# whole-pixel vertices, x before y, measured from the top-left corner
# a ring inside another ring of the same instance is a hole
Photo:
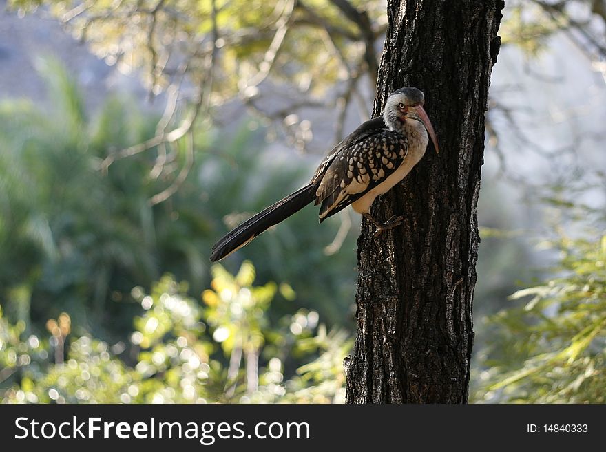
[[[381,1],[351,3],[368,14],[371,33],[384,23]],[[348,76],[346,65],[364,61],[363,30],[328,0],[12,0],[10,6],[47,7],[108,63],[143,69],[156,94],[185,58],[195,86],[212,78],[215,105],[238,92],[253,95],[247,88],[270,71],[274,82],[311,84],[324,94]]]

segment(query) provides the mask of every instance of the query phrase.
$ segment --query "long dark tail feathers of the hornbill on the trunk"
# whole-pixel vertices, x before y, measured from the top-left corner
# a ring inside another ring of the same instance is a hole
[[[268,228],[271,228],[274,224],[278,224],[293,215],[293,213],[300,211],[307,204],[315,200],[316,188],[313,184],[306,185],[302,189],[295,191],[295,193],[286,196],[283,200],[269,206],[264,211],[247,219],[247,221],[240,224],[240,226],[230,233],[227,233],[213,246],[211,261],[215,262],[229,256],[232,252],[238,250],[238,248],[249,244],[252,239]]]

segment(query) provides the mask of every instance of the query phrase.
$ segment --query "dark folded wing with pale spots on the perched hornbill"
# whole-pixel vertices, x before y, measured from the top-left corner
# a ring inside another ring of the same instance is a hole
[[[341,211],[386,180],[404,162],[408,142],[401,133],[381,130],[343,147],[316,191],[320,222]]]

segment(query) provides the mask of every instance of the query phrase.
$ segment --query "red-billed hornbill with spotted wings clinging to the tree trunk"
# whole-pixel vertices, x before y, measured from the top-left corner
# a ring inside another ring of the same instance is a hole
[[[210,260],[231,255],[311,202],[320,204],[320,223],[351,205],[375,226],[375,236],[401,224],[401,216],[377,222],[370,215],[370,206],[410,173],[425,154],[429,138],[439,153],[424,103],[420,89],[396,89],[388,96],[382,116],[362,123],[339,142],[308,184],[224,235],[211,249]]]

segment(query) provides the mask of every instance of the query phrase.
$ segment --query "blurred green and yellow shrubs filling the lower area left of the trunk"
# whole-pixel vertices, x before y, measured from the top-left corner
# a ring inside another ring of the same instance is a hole
[[[315,215],[298,215],[226,268],[207,261],[231,222],[297,188],[306,160],[264,152],[263,132],[248,122],[229,134],[197,128],[204,144],[191,173],[152,206],[178,171],[181,143],[156,177],[155,148],[103,173],[103,158],[153,136],[156,118],[127,98],[85,113],[65,70],[52,62],[47,69],[57,90],[50,111],[0,106],[3,399],[285,401],[289,388],[319,383],[313,366],[297,369],[320,358],[336,382],[320,398],[341,400],[335,392],[351,343],[311,341],[326,337],[320,316],[346,323],[353,298],[353,238],[341,253],[322,252],[338,219],[318,226]]]

